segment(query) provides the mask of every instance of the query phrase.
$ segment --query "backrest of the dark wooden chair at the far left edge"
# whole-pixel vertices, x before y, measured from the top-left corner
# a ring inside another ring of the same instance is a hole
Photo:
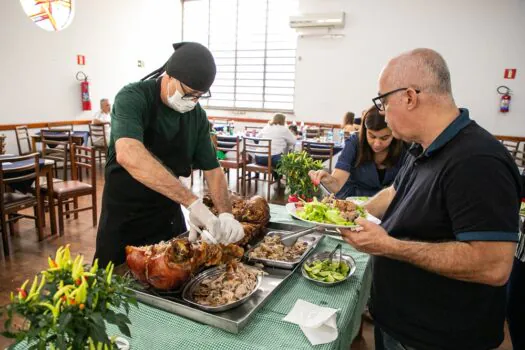
[[[5,164],[11,163],[11,164]],[[40,191],[39,182],[40,165],[38,153],[26,154],[23,156],[2,157],[0,159],[0,207],[1,212],[4,210],[4,193],[5,185],[11,185],[17,182],[34,180],[35,193]]]

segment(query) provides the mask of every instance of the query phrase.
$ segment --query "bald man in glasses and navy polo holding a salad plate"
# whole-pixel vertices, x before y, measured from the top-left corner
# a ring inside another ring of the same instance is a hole
[[[376,349],[493,349],[518,239],[520,182],[508,151],[458,109],[444,59],[392,59],[379,96],[394,137],[412,142],[394,184],[345,240],[374,255]]]

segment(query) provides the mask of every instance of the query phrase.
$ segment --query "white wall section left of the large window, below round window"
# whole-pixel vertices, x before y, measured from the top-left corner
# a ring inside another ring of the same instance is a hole
[[[18,0],[0,11],[0,124],[90,119],[100,98],[160,67],[180,40],[178,0],[76,0],[73,22],[47,32]],[[78,66],[76,55],[86,57]],[[145,61],[138,68],[137,60]],[[92,108],[82,112],[76,72],[89,76]],[[12,133],[8,151],[16,153]]]

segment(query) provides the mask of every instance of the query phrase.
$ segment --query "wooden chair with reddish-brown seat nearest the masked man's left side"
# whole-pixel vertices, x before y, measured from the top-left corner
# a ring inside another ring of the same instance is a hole
[[[79,180],[80,170],[87,169],[90,174],[90,183]],[[95,150],[91,147],[72,145],[71,147],[71,177],[72,180],[62,181],[53,184],[53,196],[57,200],[58,206],[58,232],[64,234],[64,216],[74,214],[75,219],[78,213],[85,210],[92,211],[93,226],[97,225],[97,176],[95,172]],[[79,208],[78,197],[91,196],[91,206]],[[69,210],[64,205],[73,199],[73,209]]]

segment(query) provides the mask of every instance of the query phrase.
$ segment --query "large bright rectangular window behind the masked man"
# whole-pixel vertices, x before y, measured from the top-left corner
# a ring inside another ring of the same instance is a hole
[[[213,108],[292,111],[297,37],[289,17],[298,0],[186,0],[184,41],[207,46],[217,77]]]

